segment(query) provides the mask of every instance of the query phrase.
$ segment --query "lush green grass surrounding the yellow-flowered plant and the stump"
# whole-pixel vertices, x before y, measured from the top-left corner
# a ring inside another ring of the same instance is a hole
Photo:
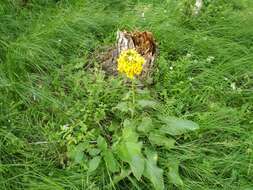
[[[3,0],[0,189],[110,188],[105,170],[90,176],[62,168],[56,132],[85,114],[96,127],[92,116],[101,105],[112,122],[126,87],[101,74],[93,52],[113,44],[117,29],[154,33],[159,56],[149,89],[164,115],[200,125],[174,149],[159,149],[166,189],[253,188],[253,2],[206,1],[196,18],[185,10],[176,0],[31,0],[25,7]],[[171,155],[183,186],[167,176]],[[129,177],[115,188],[152,186]]]

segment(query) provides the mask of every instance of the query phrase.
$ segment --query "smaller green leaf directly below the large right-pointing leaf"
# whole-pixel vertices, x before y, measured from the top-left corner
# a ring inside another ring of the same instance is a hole
[[[173,138],[168,138],[165,135],[156,133],[150,133],[148,138],[152,144],[164,146],[167,149],[173,148],[176,142]]]

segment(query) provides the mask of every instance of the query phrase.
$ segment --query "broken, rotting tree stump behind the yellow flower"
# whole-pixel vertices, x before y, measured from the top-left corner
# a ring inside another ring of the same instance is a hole
[[[120,53],[127,49],[135,49],[145,59],[143,71],[138,78],[142,81],[150,80],[156,56],[156,43],[153,34],[147,31],[118,31],[116,40],[114,47],[99,55],[102,69],[110,75],[117,75],[117,59]]]

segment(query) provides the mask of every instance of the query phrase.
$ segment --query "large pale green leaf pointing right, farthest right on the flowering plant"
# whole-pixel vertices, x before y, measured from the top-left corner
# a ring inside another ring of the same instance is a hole
[[[160,128],[160,132],[170,135],[182,135],[189,131],[199,129],[199,125],[193,121],[179,119],[175,117],[159,117],[165,124]]]

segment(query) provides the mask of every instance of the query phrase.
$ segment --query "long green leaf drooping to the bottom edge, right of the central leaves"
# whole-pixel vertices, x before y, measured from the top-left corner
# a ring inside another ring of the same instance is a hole
[[[156,165],[157,154],[149,151],[146,155],[144,176],[153,183],[156,190],[163,190],[163,170]]]

